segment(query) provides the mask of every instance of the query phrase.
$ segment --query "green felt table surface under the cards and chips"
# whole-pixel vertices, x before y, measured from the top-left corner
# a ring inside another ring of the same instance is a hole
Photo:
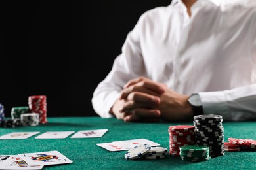
[[[226,152],[224,156],[209,161],[183,161],[179,156],[160,160],[125,160],[125,152],[110,152],[96,143],[145,138],[169,150],[168,127],[192,122],[126,123],[116,118],[64,117],[47,118],[47,124],[34,127],[1,128],[0,135],[17,131],[80,131],[108,129],[103,137],[72,139],[2,139],[0,154],[22,154],[58,150],[73,163],[45,166],[43,169],[256,169],[256,152]],[[228,137],[256,139],[256,122],[223,122],[224,140]]]

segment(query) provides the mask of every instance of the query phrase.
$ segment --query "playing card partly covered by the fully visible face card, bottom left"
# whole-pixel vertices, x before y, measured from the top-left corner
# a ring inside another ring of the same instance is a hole
[[[22,160],[18,155],[9,156],[0,163],[0,169],[42,169],[43,165],[30,166],[26,161]]]

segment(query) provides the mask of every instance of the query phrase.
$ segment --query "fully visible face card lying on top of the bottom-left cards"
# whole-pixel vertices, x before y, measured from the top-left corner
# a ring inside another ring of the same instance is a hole
[[[53,150],[47,152],[35,152],[35,153],[26,153],[26,154],[18,154],[20,158],[22,158],[28,165],[57,165],[57,164],[65,164],[72,163],[73,161],[68,159],[66,156],[61,154],[60,152]]]

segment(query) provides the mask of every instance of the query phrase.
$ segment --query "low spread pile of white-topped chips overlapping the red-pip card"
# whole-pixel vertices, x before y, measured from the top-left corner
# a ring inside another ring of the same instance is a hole
[[[126,160],[157,160],[165,158],[167,155],[167,148],[163,147],[151,147],[150,144],[139,144],[134,148],[131,148],[125,153]]]

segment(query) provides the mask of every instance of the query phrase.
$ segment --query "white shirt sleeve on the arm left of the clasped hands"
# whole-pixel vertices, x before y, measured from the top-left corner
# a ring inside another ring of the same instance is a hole
[[[102,118],[111,118],[110,108],[118,99],[123,86],[131,79],[144,76],[144,62],[140,50],[140,30],[142,29],[143,15],[134,29],[129,32],[122,52],[114,60],[112,70],[100,84],[96,87],[92,105],[96,114]]]

